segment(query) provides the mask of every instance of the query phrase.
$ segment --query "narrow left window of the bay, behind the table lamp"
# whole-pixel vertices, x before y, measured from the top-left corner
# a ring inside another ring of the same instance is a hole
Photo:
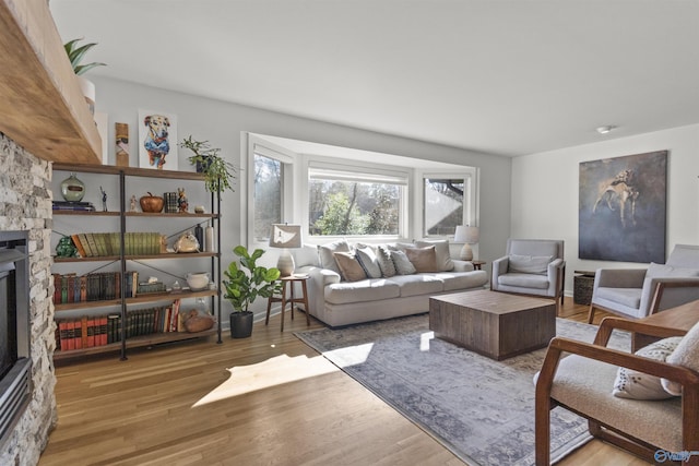
[[[282,180],[284,165],[274,158],[254,154],[254,225],[253,238],[264,242],[270,238],[270,225],[282,223]]]

